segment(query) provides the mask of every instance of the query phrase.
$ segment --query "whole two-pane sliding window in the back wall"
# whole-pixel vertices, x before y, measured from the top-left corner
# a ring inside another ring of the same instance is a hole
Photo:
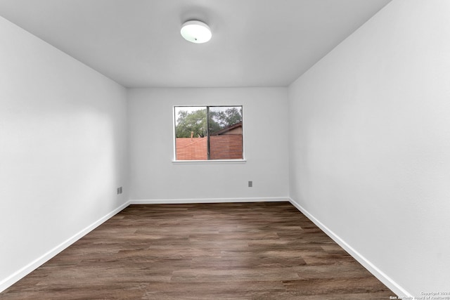
[[[243,159],[242,106],[175,106],[176,160]]]

